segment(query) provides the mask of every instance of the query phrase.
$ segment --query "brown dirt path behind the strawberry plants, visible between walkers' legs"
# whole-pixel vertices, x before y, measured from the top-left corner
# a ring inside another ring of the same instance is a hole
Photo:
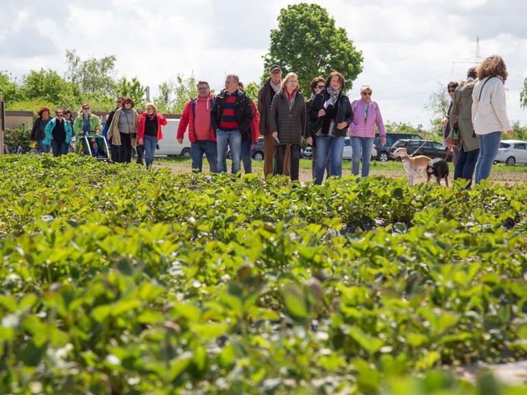
[[[171,165],[162,163],[159,165],[154,164],[155,167],[166,167],[171,169],[173,173],[188,173],[191,171],[190,165]],[[208,171],[208,165],[206,164],[206,160],[204,160],[204,171]],[[261,169],[256,168],[254,169],[255,172],[261,171]],[[349,170],[343,171],[343,176],[349,176],[351,173]],[[371,169],[370,171],[371,176],[384,176],[387,178],[400,178],[403,177],[406,173],[403,169],[400,171],[396,170],[378,170],[378,169]],[[311,171],[308,169],[300,169],[299,172],[299,180],[300,182],[310,182],[312,180]],[[450,180],[452,180],[452,174],[450,175]],[[517,173],[509,173],[509,172],[503,172],[503,171],[493,171],[491,173],[491,180],[494,182],[498,182],[499,184],[523,184],[524,182],[527,182],[527,167],[525,171],[517,172]],[[417,182],[425,182],[425,178],[417,178]]]

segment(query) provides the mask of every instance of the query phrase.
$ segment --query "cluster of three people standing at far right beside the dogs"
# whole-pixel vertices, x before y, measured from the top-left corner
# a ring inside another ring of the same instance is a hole
[[[502,133],[513,134],[506,113],[505,81],[508,73],[501,56],[492,55],[467,72],[467,80],[448,84],[451,97],[443,138],[452,129],[459,132],[454,152],[454,180],[469,180],[476,184],[489,178],[498,154]],[[475,175],[474,175],[475,174]]]

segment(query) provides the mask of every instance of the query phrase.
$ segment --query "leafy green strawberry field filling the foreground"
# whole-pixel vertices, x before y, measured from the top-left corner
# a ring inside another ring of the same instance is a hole
[[[523,185],[0,166],[0,393],[526,393]]]

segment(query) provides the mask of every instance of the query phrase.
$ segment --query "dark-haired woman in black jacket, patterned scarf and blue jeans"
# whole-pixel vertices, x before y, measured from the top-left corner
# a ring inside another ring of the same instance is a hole
[[[309,115],[311,130],[317,139],[317,161],[315,163],[315,184],[321,184],[328,156],[331,157],[330,176],[342,176],[342,155],[347,126],[353,121],[350,99],[342,92],[344,76],[333,71],[326,78],[326,89],[313,100]]]

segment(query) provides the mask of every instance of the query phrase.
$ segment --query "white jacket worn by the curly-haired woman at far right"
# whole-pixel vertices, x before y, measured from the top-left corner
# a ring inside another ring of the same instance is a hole
[[[485,84],[487,80],[489,82]],[[482,87],[483,91],[481,91]],[[474,85],[472,90],[472,124],[476,134],[512,130],[511,122],[507,117],[505,86],[502,77],[485,77],[478,80]]]

